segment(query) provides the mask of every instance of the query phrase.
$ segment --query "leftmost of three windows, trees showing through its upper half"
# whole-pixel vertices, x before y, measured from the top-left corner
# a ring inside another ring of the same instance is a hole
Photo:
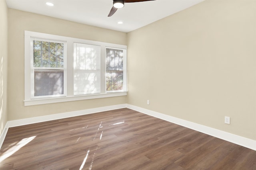
[[[31,98],[65,96],[66,43],[36,38],[32,38],[31,43],[33,44],[31,74],[34,75],[31,81]]]

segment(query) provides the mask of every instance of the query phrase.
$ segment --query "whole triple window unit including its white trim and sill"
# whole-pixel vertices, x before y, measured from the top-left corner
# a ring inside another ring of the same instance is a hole
[[[24,105],[127,95],[126,48],[25,31]]]

